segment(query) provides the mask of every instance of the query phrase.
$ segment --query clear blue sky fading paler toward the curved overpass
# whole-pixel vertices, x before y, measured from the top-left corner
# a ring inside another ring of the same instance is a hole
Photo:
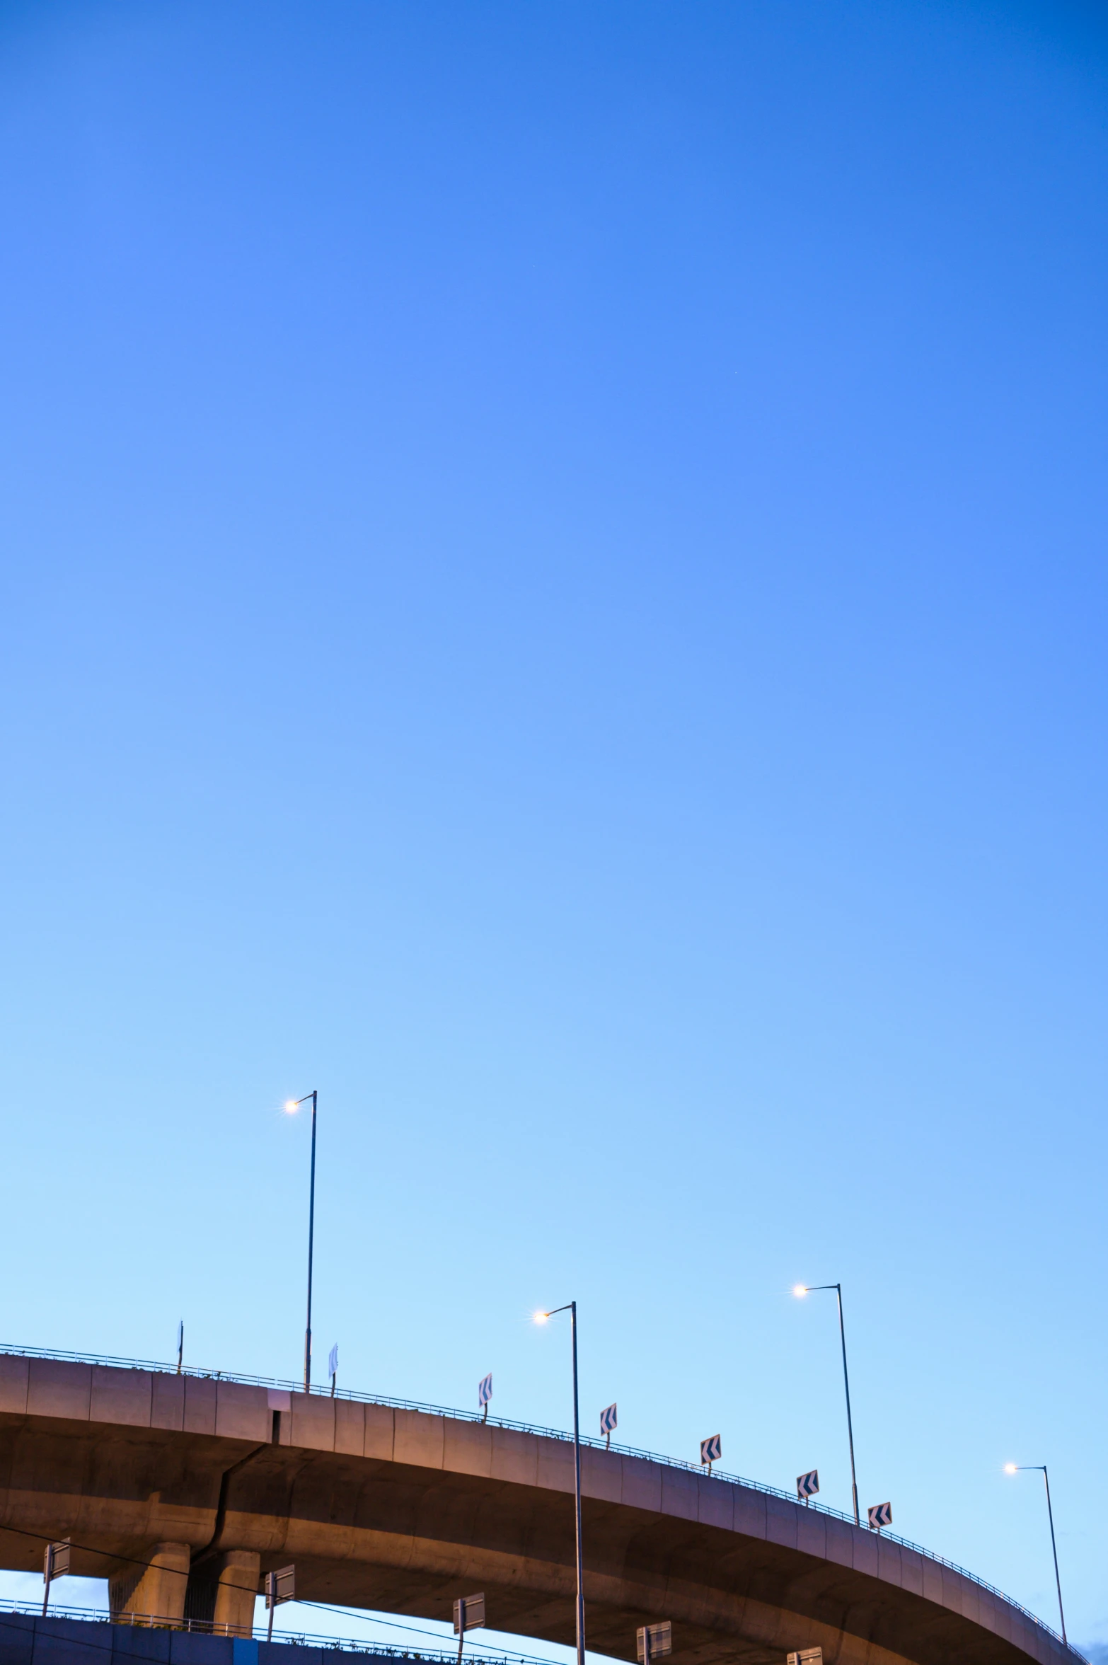
[[[0,42],[3,1337],[294,1375],[318,1087],[318,1375],[845,1507],[842,1279],[1108,1647],[1101,8]]]

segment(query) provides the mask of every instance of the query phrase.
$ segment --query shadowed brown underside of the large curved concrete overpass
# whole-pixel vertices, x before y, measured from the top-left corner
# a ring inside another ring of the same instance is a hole
[[[303,1600],[448,1620],[482,1588],[496,1630],[574,1640],[572,1495],[549,1485],[0,1415],[0,1520],[5,1565],[40,1570],[45,1540],[70,1537],[72,1570],[110,1578],[120,1610],[151,1562],[145,1610],[178,1617],[211,1617],[228,1563],[253,1607],[258,1575],[294,1562]],[[637,1625],[670,1618],[679,1665],[780,1665],[814,1643],[842,1665],[1026,1662],[852,1567],[660,1510],[586,1497],[584,1547],[587,1643],[617,1658]]]

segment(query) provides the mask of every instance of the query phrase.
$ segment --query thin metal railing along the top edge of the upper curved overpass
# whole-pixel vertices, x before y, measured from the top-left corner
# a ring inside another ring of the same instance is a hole
[[[100,1365],[110,1365],[118,1370],[150,1370],[158,1375],[178,1374],[176,1365],[160,1364],[148,1359],[110,1359],[100,1354],[52,1352],[47,1347],[13,1347],[8,1342],[0,1342],[0,1355],[2,1354],[13,1354],[18,1359],[60,1359],[73,1364],[100,1364]],[[289,1382],[284,1380],[283,1377],[275,1377],[275,1375],[243,1375],[240,1370],[183,1369],[180,1375],[196,1377],[198,1380],[205,1382],[240,1382],[243,1387],[275,1387],[279,1389],[281,1392],[289,1392],[289,1394],[304,1392],[303,1382]],[[331,1394],[329,1387],[313,1387],[311,1392],[321,1399],[334,1397],[334,1399],[354,1400],[356,1404],[361,1405],[386,1405],[393,1410],[416,1410],[429,1417],[453,1417],[456,1422],[479,1422],[487,1427],[511,1429],[517,1434],[537,1434],[541,1439],[567,1440],[569,1444],[572,1444],[572,1434],[566,1434],[564,1429],[544,1429],[531,1422],[514,1422],[511,1417],[484,1417],[479,1410],[454,1410],[449,1405],[424,1405],[414,1399],[391,1399],[388,1394],[363,1394],[349,1387],[336,1389],[334,1395]],[[636,1445],[617,1445],[616,1442],[612,1442],[609,1447],[606,1440],[601,1440],[591,1434],[582,1434],[581,1444],[589,1445],[594,1450],[602,1452],[611,1449],[617,1452],[621,1457],[639,1457],[644,1462],[659,1464],[664,1469],[682,1469],[687,1474],[705,1477],[704,1467],[700,1464],[685,1462],[684,1457],[665,1457],[660,1452],[646,1452],[637,1449]],[[742,1485],[747,1487],[750,1492],[762,1492],[765,1497],[780,1497],[787,1503],[800,1507],[795,1494],[785,1492],[779,1485],[765,1485],[760,1480],[747,1480],[744,1475],[725,1474],[722,1469],[709,1470],[707,1479],[725,1480],[730,1485]],[[830,1503],[817,1503],[809,1500],[804,1507],[814,1508],[820,1515],[829,1515],[832,1520],[842,1520],[845,1522],[845,1525],[853,1527],[855,1530],[868,1530],[868,1528],[858,1528],[855,1525],[853,1515],[847,1515],[842,1508],[832,1508]],[[1038,1628],[1045,1630],[1046,1635],[1055,1638],[1055,1642],[1060,1642],[1070,1653],[1075,1655],[1075,1658],[1083,1660],[1085,1665],[1088,1665],[1085,1655],[1080,1653],[1071,1642],[1068,1643],[1063,1642],[1061,1635],[1051,1625],[1048,1625],[1046,1620],[1040,1618],[1038,1613],[1033,1613],[1030,1607],[1023,1607],[1023,1603],[1016,1602],[1012,1595],[1005,1595],[1005,1592],[998,1590],[995,1583],[988,1583],[987,1578],[980,1578],[975,1572],[970,1572],[968,1567],[960,1567],[958,1562],[947,1560],[945,1555],[937,1555],[933,1550],[925,1548],[922,1543],[913,1543],[912,1538],[902,1538],[897,1532],[883,1530],[880,1532],[880,1537],[883,1537],[887,1542],[898,1543],[902,1545],[902,1548],[912,1550],[917,1555],[923,1555],[927,1560],[935,1562],[940,1567],[948,1567],[950,1572],[957,1572],[962,1578],[968,1578],[970,1583],[975,1583],[980,1590],[988,1590],[990,1595],[995,1595],[1002,1602],[1007,1602],[1008,1607],[1015,1607],[1018,1613],[1023,1613],[1023,1617],[1030,1618],[1033,1625],[1038,1625]]]

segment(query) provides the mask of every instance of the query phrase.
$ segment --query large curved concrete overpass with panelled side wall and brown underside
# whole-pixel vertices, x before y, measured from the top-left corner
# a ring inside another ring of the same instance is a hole
[[[582,1452],[586,1635],[675,1665],[1075,1665],[970,1575],[824,1510],[655,1459]],[[261,1573],[298,1597],[572,1643],[572,1444],[453,1414],[156,1369],[0,1354],[0,1563],[48,1538],[110,1580],[115,1617],[253,1623]]]

